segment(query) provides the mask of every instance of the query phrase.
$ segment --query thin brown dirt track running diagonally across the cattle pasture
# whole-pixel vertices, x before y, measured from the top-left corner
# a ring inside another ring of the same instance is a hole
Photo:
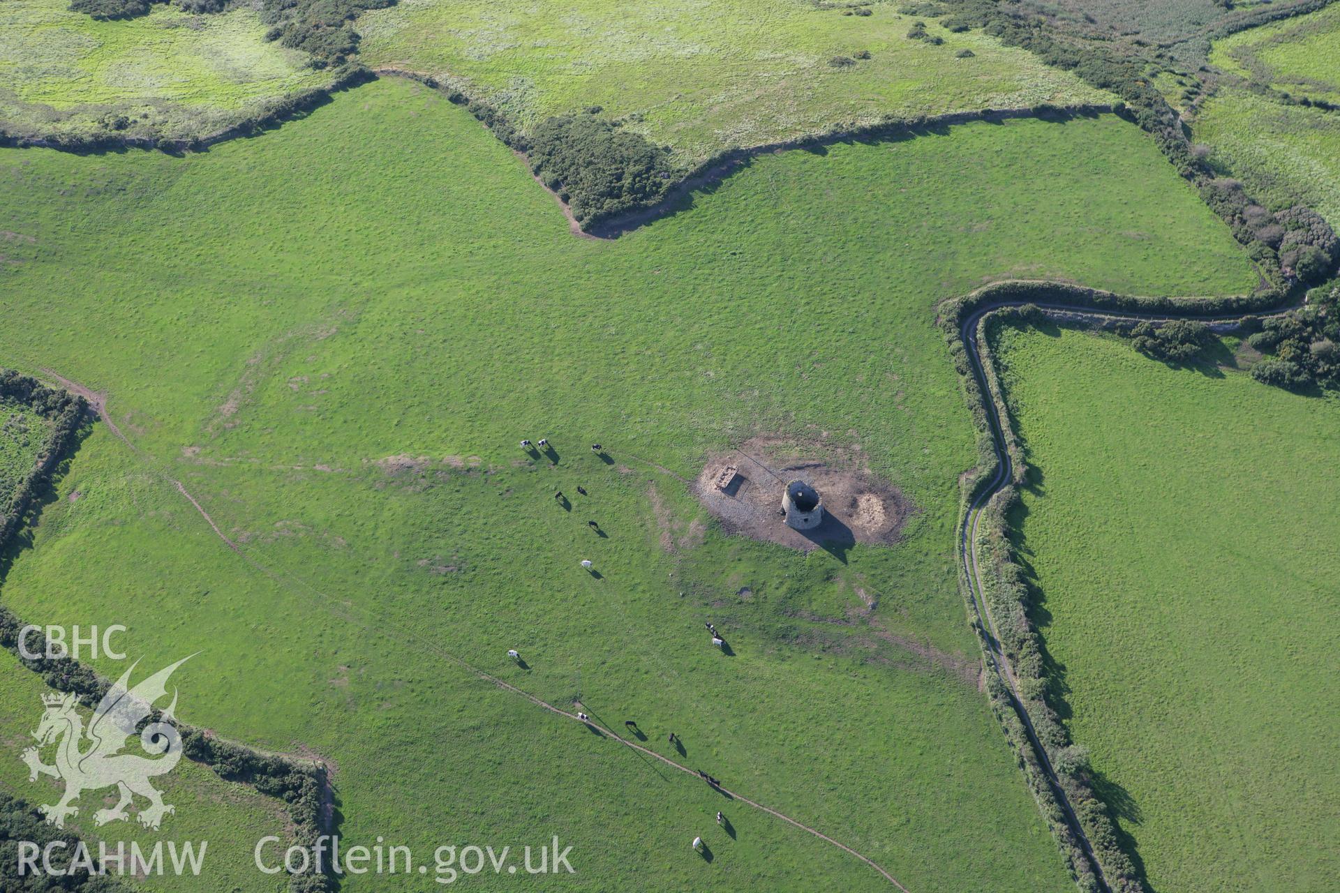
[[[131,443],[130,439],[121,431],[121,428],[118,428],[117,424],[111,420],[111,416],[107,414],[106,394],[96,394],[92,390],[84,387],[83,384],[79,384],[78,382],[67,379],[67,378],[59,375],[58,372],[55,372],[52,370],[42,368],[42,367],[39,367],[39,368],[40,368],[40,371],[43,374],[46,374],[46,375],[51,376],[52,379],[58,380],[60,383],[60,386],[64,387],[71,394],[78,394],[79,396],[82,396],[86,400],[88,400],[88,404],[96,411],[98,418],[102,419],[103,423],[106,423],[107,428],[114,435],[117,435],[117,438],[122,443],[125,443],[127,447],[130,447],[131,453],[134,453],[143,462],[146,462],[150,466],[150,469],[153,469],[153,463],[149,459],[149,457],[145,455],[145,453],[141,451],[139,447],[137,447],[134,443]],[[185,499],[188,502],[190,502],[192,506],[194,506],[196,511],[200,513],[200,515],[210,526],[210,529],[214,532],[214,534],[220,540],[222,540],[224,544],[230,550],[233,550],[239,557],[241,557],[243,561],[245,561],[248,565],[251,565],[256,570],[261,572],[263,574],[265,574],[267,577],[269,577],[275,582],[283,585],[289,592],[296,592],[295,584],[299,584],[299,585],[302,585],[307,590],[307,596],[310,598],[315,598],[315,600],[318,600],[320,602],[330,602],[330,604],[335,604],[336,602],[336,600],[334,597],[331,597],[331,596],[320,592],[319,589],[316,589],[315,586],[312,586],[306,580],[303,580],[300,577],[295,577],[295,576],[288,574],[288,573],[271,570],[269,568],[267,568],[265,565],[260,564],[259,561],[256,561],[251,556],[245,554],[241,549],[237,548],[237,544],[234,544],[232,540],[229,540],[224,534],[224,532],[218,529],[218,525],[214,523],[214,519],[212,517],[209,517],[209,513],[205,511],[204,506],[201,506],[200,502],[197,502],[196,498],[186,490],[186,487],[182,486],[181,481],[177,481],[176,478],[173,478],[170,475],[166,475],[166,474],[158,471],[157,469],[153,469],[153,470],[154,470],[154,473],[159,478],[162,478],[168,483],[174,485],[177,487],[177,491],[181,493],[181,495],[185,497]],[[670,473],[670,474],[673,474],[673,473]],[[678,475],[675,475],[675,477],[678,477]],[[351,611],[351,609],[356,611],[358,613],[364,615],[367,617],[366,628],[368,631],[375,631],[378,628],[381,628],[383,632],[387,631],[387,629],[394,631],[394,633],[398,637],[401,637],[402,640],[414,641],[419,647],[422,647],[422,648],[425,648],[427,651],[431,651],[433,653],[438,655],[440,657],[446,659],[450,663],[454,663],[456,665],[461,667],[462,669],[466,669],[468,672],[473,673],[478,679],[481,679],[484,681],[488,681],[488,683],[492,683],[493,685],[501,688],[503,691],[507,691],[507,692],[511,692],[513,695],[520,695],[521,698],[525,698],[527,700],[529,700],[536,707],[541,707],[541,708],[544,708],[544,710],[547,710],[547,711],[549,711],[552,714],[556,714],[559,716],[564,716],[567,719],[571,719],[572,722],[583,723],[583,724],[590,724],[592,727],[596,727],[596,728],[599,728],[602,731],[602,734],[604,734],[606,736],[614,739],[619,744],[623,744],[624,747],[630,747],[630,748],[632,748],[635,751],[639,751],[639,752],[642,752],[642,754],[645,754],[647,756],[655,758],[655,759],[661,760],[662,763],[665,763],[666,766],[677,768],[681,773],[685,773],[686,775],[693,775],[693,777],[698,775],[698,770],[689,768],[687,766],[677,763],[675,760],[670,759],[669,756],[658,754],[657,751],[654,751],[654,750],[651,750],[649,747],[643,747],[642,744],[638,744],[636,742],[631,742],[631,740],[620,736],[618,732],[615,732],[612,728],[610,728],[607,726],[596,726],[595,723],[583,722],[582,719],[578,718],[576,714],[568,712],[568,711],[563,710],[561,707],[555,707],[549,702],[543,700],[541,698],[537,698],[536,695],[532,695],[531,692],[525,691],[524,688],[519,688],[519,687],[513,685],[512,683],[504,681],[503,679],[498,679],[497,676],[493,676],[492,673],[488,673],[488,672],[480,669],[478,667],[474,667],[473,664],[470,664],[469,661],[464,660],[462,657],[457,657],[452,652],[444,649],[442,647],[440,647],[434,641],[423,639],[423,637],[421,637],[421,636],[418,636],[418,635],[415,635],[415,633],[413,633],[413,632],[410,632],[407,629],[401,629],[401,628],[391,627],[386,621],[385,617],[374,617],[371,615],[371,612],[368,612],[368,611],[366,611],[363,608],[359,608],[356,605],[351,605],[351,604],[347,604],[347,602],[339,602],[339,604],[340,604],[340,608],[342,608],[340,616],[347,616],[347,612]],[[322,606],[327,608],[327,604],[322,604]],[[374,621],[375,621],[375,625],[374,625]],[[765,806],[765,805],[762,805],[762,803],[760,803],[757,801],[749,799],[748,797],[745,797],[742,794],[737,794],[736,791],[732,791],[732,790],[726,789],[725,786],[718,786],[717,790],[720,790],[724,794],[726,794],[730,799],[738,801],[738,802],[745,803],[746,806],[750,806],[750,807],[753,807],[756,810],[760,810],[762,813],[768,813],[769,815],[780,818],[781,821],[787,822],[788,825],[793,825],[795,827],[799,827],[800,830],[807,831],[808,834],[812,834],[813,837],[817,837],[819,839],[824,841],[825,843],[831,843],[832,846],[836,846],[838,849],[843,850],[844,853],[848,853],[848,854],[856,857],[858,860],[860,860],[862,862],[864,862],[870,868],[872,868],[876,872],[879,872],[879,874],[883,876],[884,880],[887,880],[895,888],[898,888],[903,893],[910,893],[906,886],[903,886],[902,884],[899,884],[898,880],[892,874],[890,874],[888,872],[886,872],[879,864],[876,864],[870,857],[863,856],[862,853],[858,853],[856,850],[854,850],[852,847],[847,846],[846,843],[828,837],[827,834],[824,834],[823,831],[820,831],[820,830],[817,830],[815,827],[811,827],[811,826],[808,826],[808,825],[805,825],[803,822],[799,822],[799,821],[793,819],[792,817],[787,815],[785,813],[779,813],[777,810],[772,809],[770,806]]]

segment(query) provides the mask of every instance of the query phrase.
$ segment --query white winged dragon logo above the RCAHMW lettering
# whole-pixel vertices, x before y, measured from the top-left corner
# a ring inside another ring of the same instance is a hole
[[[83,727],[83,719],[75,710],[74,695],[42,696],[47,712],[42,716],[38,730],[32,732],[32,736],[38,739],[38,746],[23,751],[23,762],[28,764],[29,782],[38,781],[38,775],[51,775],[66,783],[66,794],[59,803],[38,807],[47,817],[48,825],[64,827],[67,817],[79,814],[79,807],[71,806],[71,803],[79,798],[82,791],[111,787],[113,785],[121,790],[121,801],[111,809],[100,809],[94,813],[94,822],[98,825],[127,821],[130,817],[126,814],[126,807],[131,805],[134,794],[149,799],[149,806],[142,809],[138,815],[139,823],[145,827],[158,830],[163,815],[176,811],[174,807],[163,803],[162,794],[149,783],[150,778],[170,773],[177,760],[181,759],[181,734],[170,722],[176,719],[173,716],[173,711],[177,708],[176,689],[173,689],[172,704],[162,714],[162,720],[149,723],[139,734],[139,743],[146,752],[155,758],[118,754],[117,751],[126,744],[130,735],[135,734],[135,727],[149,716],[154,702],[168,695],[168,677],[188,660],[190,657],[182,657],[134,688],[127,688],[130,673],[139,663],[137,660],[99,702],[87,732]],[[90,746],[87,750],[80,750],[86,740]],[[55,766],[47,766],[42,762],[40,751],[56,742],[59,743],[56,744]]]

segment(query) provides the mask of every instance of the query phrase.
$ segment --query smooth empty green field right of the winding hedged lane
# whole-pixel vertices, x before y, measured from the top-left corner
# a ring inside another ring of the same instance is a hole
[[[1336,400],[1073,331],[1001,357],[1036,620],[1151,889],[1332,889]]]

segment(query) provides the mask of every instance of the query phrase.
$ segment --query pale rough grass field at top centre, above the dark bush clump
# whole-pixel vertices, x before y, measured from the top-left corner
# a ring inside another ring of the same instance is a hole
[[[933,46],[907,37],[917,17],[887,4],[868,9],[799,0],[405,0],[363,15],[358,29],[370,66],[433,74],[523,126],[602,106],[673,146],[685,169],[726,149],[886,115],[1112,102],[981,32],[950,33],[923,19],[943,39]],[[961,59],[962,50],[976,55]],[[835,67],[836,58],[848,64]]]

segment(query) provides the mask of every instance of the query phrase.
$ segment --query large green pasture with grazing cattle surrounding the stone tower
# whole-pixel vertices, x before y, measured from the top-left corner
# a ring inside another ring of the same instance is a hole
[[[186,158],[5,150],[0,195],[32,238],[0,348],[106,390],[138,450],[96,427],[0,597],[123,623],[150,664],[201,649],[184,719],[328,758],[348,842],[557,834],[582,889],[884,884],[460,659],[661,752],[678,732],[682,762],[919,893],[1068,885],[984,696],[941,668],[977,660],[953,550],[976,451],[933,305],[1009,276],[1249,289],[1134,127],[769,155],[607,242],[464,110],[382,80]],[[915,506],[903,542],[724,536],[683,479],[758,432],[860,447]]]

